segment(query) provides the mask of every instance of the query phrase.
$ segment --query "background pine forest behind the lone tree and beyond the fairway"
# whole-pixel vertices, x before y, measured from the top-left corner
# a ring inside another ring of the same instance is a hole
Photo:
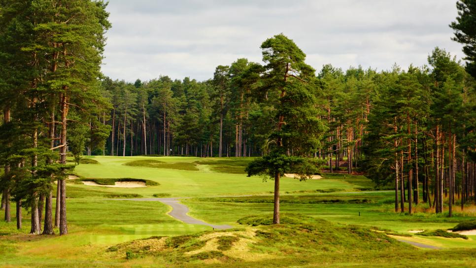
[[[238,59],[203,82],[105,79],[103,94],[113,105],[104,118],[112,131],[92,153],[268,154],[278,128],[270,122],[279,116],[266,74]],[[307,75],[306,87],[315,98],[313,124],[326,129],[309,156],[324,160],[328,172],[366,172],[379,185],[393,184],[397,211],[411,212],[412,203],[423,201],[442,212],[443,195],[456,194],[461,205],[475,196],[475,80],[443,49],[429,54],[427,66],[405,70],[325,65]],[[306,124],[300,126],[304,131]],[[298,147],[286,150],[296,155]]]

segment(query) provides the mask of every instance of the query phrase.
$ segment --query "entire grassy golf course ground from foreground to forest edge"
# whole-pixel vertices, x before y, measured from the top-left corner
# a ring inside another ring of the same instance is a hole
[[[448,258],[457,255],[470,267],[476,260],[473,210],[447,218],[424,213],[422,204],[421,213],[395,213],[393,191],[362,175],[281,178],[281,222],[272,225],[273,181],[246,176],[253,158],[86,159],[94,161],[82,161],[66,181],[68,236],[27,234],[23,210],[23,230],[0,224],[3,266],[452,267]],[[125,185],[108,187],[118,183]]]

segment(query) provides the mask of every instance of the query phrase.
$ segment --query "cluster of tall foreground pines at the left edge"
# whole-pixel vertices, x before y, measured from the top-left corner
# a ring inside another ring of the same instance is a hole
[[[17,228],[22,207],[32,234],[68,233],[66,178],[85,143],[102,147],[109,110],[100,83],[106,3],[92,0],[0,1],[0,165],[2,208]],[[53,218],[53,188],[57,184]],[[43,214],[44,212],[44,214]],[[43,224],[44,220],[44,225]],[[43,229],[43,230],[42,230]]]

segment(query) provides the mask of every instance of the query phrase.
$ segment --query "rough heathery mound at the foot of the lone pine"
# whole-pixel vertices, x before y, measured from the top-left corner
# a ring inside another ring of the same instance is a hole
[[[172,237],[150,237],[110,247],[121,258],[156,256],[169,263],[214,261],[245,267],[246,261],[287,256],[335,253],[343,256],[362,252],[410,249],[385,234],[357,226],[337,226],[300,214],[283,214],[286,224],[270,225],[271,215],[250,216],[239,222],[247,227]],[[350,256],[349,255],[349,256]]]

